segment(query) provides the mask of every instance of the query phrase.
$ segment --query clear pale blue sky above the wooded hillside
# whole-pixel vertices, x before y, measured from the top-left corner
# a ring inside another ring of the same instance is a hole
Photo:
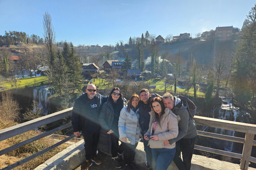
[[[43,37],[43,15],[48,12],[56,41],[78,45],[115,45],[120,40],[155,36],[179,36],[242,28],[255,0],[0,0],[0,35],[22,31]]]

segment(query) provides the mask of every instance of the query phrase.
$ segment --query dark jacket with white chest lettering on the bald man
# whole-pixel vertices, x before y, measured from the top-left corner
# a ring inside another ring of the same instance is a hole
[[[100,131],[99,125],[99,112],[103,103],[105,103],[108,99],[108,96],[102,96],[100,94],[96,94],[93,99],[96,99],[97,103],[97,113],[93,112],[90,106],[90,99],[87,94],[79,96],[75,100],[75,104],[73,106],[71,123],[73,126],[74,132],[79,132],[82,129],[88,133],[98,132]]]

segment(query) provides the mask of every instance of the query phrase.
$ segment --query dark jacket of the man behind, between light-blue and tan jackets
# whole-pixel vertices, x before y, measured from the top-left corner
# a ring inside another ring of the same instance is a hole
[[[147,104],[145,104],[141,99],[139,101],[139,115],[140,115],[139,123],[140,123],[140,128],[143,134],[148,131],[148,125],[150,121],[149,112],[151,111],[150,101],[155,97],[162,98],[162,96],[159,96],[158,94],[151,94]]]

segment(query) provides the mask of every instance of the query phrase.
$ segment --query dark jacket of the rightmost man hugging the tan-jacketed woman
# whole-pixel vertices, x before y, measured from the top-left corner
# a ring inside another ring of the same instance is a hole
[[[180,116],[180,121],[179,121],[179,134],[177,138],[170,139],[169,142],[172,144],[174,142],[179,141],[180,139],[190,139],[194,138],[197,135],[197,130],[196,130],[196,123],[189,116],[188,110],[187,110],[187,104],[183,103],[182,100],[177,100],[177,97],[174,98],[175,103],[174,107],[172,108],[172,112]],[[179,101],[179,102],[177,102]]]

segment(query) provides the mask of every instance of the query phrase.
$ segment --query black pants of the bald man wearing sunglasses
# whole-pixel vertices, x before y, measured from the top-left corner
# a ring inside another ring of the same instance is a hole
[[[94,133],[87,133],[82,130],[84,137],[84,150],[85,150],[85,158],[91,159],[92,157],[97,156],[97,146],[100,138],[100,131]]]

